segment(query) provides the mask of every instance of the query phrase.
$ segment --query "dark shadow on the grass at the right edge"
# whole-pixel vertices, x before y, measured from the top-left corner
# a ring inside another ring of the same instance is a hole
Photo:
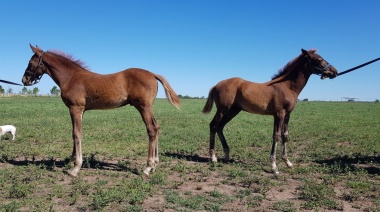
[[[380,175],[380,155],[378,156],[355,156],[347,155],[326,160],[316,160],[316,163],[325,164],[332,169],[339,167],[341,172],[364,169],[368,174]]]

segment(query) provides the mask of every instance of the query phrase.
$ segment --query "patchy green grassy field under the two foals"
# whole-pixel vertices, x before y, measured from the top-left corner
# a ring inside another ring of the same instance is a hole
[[[0,98],[1,211],[379,211],[380,104],[299,102],[292,113],[288,169],[270,172],[273,118],[240,113],[225,128],[230,163],[208,160],[204,99],[176,110],[157,99],[160,164],[149,178],[147,135],[130,106],[87,111],[77,178],[68,109],[57,97]],[[217,155],[223,156],[219,140]],[[280,148],[279,148],[280,149]],[[278,152],[279,153],[279,152]]]

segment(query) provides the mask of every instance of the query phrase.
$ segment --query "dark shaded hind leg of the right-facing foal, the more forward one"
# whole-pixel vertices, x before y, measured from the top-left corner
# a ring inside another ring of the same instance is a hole
[[[237,107],[233,107],[230,110],[228,110],[228,112],[225,113],[225,115],[223,116],[217,130],[220,142],[222,143],[222,146],[223,146],[225,162],[230,161],[230,148],[228,147],[227,140],[224,137],[223,129],[228,122],[230,122],[237,114],[240,113],[240,111],[241,109]]]

